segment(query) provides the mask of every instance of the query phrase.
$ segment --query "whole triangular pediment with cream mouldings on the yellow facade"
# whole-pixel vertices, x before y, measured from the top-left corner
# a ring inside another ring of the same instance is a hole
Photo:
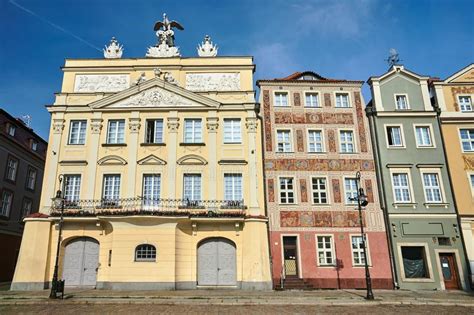
[[[154,78],[92,102],[92,109],[217,108],[220,103],[179,86]]]

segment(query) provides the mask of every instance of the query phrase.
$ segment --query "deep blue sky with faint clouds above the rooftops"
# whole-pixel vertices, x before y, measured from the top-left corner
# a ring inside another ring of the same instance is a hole
[[[31,115],[47,139],[44,106],[60,91],[64,59],[101,58],[91,46],[112,36],[123,57],[144,57],[163,12],[185,28],[176,32],[183,56],[209,34],[219,55],[255,56],[255,79],[312,70],[366,80],[387,70],[392,47],[407,68],[441,78],[474,62],[472,0],[0,0],[0,106]]]

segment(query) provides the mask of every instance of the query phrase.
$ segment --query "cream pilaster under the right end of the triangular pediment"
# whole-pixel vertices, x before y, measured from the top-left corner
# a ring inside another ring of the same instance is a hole
[[[215,117],[216,112],[210,112],[210,115],[214,117],[207,118],[207,130],[208,130],[208,150],[209,150],[209,189],[208,197],[209,200],[217,200],[217,128],[219,127],[219,118]]]

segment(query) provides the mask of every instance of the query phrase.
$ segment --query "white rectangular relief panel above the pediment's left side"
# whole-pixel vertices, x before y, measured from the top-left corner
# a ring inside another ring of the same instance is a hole
[[[128,74],[77,74],[74,92],[119,92],[130,87]]]

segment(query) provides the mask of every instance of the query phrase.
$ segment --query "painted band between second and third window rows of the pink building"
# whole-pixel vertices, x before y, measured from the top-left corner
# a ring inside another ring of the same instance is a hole
[[[374,171],[374,161],[361,159],[265,160],[265,171]]]

